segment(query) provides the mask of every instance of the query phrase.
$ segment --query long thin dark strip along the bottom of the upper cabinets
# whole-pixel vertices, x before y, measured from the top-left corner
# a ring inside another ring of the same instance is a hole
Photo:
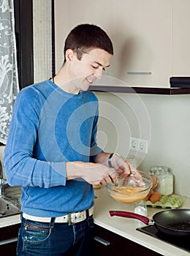
[[[115,92],[127,94],[190,94],[190,88],[147,88],[147,87],[125,87],[125,86],[90,86],[89,91]]]

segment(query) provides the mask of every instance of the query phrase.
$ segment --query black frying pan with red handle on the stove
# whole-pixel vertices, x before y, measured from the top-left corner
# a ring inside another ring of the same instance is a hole
[[[190,209],[171,209],[153,215],[153,221],[129,211],[110,211],[110,216],[140,219],[145,225],[155,225],[161,233],[170,236],[189,236]]]

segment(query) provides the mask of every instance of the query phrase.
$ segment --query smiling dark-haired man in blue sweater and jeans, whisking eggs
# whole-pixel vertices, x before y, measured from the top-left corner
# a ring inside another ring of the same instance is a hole
[[[22,187],[18,255],[89,255],[92,185],[115,183],[110,167],[130,173],[128,162],[96,145],[98,101],[87,91],[112,55],[102,29],[79,25],[58,74],[18,94],[4,152],[7,181]]]

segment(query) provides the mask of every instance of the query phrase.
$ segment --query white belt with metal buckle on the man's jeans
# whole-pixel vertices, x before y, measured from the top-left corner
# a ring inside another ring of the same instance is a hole
[[[66,214],[61,217],[56,217],[56,223],[69,223],[69,225],[75,224],[77,222],[83,222],[83,220],[87,219],[89,216],[93,214],[94,207],[91,207],[88,210],[77,211],[73,213]],[[25,214],[23,212],[23,218],[33,220],[34,222],[50,222],[51,217],[35,217],[29,214]]]

